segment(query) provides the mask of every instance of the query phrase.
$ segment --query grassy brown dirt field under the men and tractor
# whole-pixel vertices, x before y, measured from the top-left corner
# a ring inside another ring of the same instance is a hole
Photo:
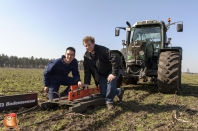
[[[0,68],[0,95],[37,92],[39,100],[46,101],[46,94],[42,92],[42,76],[41,69]],[[83,79],[83,74],[81,77]],[[149,83],[122,88],[125,89],[123,102],[118,102],[115,97],[115,109],[112,111],[99,106],[82,114],[67,113],[67,107],[47,111],[36,108],[22,113],[27,109],[21,108],[0,112],[0,117],[10,112],[19,113],[19,128],[24,131],[198,130],[198,75],[182,74],[179,94],[158,93],[157,87]],[[49,118],[53,119],[47,120]],[[0,130],[2,128],[3,124]]]

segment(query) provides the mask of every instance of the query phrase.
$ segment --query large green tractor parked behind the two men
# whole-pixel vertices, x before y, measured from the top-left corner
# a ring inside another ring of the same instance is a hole
[[[183,32],[183,22],[168,23],[158,20],[136,22],[132,27],[116,27],[115,36],[120,30],[126,31],[126,40],[122,40],[123,49],[114,50],[121,60],[121,81],[125,84],[137,84],[140,79],[156,84],[161,93],[176,93],[181,88],[182,48],[173,47],[167,31],[177,23],[177,32]]]

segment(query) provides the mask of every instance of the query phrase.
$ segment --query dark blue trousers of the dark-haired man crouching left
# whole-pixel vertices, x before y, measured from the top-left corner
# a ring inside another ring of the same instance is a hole
[[[60,83],[50,83],[49,85],[49,91],[48,91],[48,98],[49,100],[52,100],[54,98],[59,98],[59,96],[66,96],[68,95],[68,92],[70,90],[70,86],[75,84],[75,80],[72,77],[66,77],[64,81],[61,81]],[[58,91],[60,88],[60,85],[67,86],[66,89],[60,93],[58,96]]]

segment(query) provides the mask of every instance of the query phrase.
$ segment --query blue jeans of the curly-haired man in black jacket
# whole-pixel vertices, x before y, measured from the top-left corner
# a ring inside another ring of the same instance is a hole
[[[112,71],[109,72],[109,74],[111,73]],[[105,98],[106,104],[113,103],[114,97],[120,92],[120,88],[116,88],[117,79],[119,76],[120,74],[109,83],[106,77],[101,75],[99,77],[100,95],[101,97]]]

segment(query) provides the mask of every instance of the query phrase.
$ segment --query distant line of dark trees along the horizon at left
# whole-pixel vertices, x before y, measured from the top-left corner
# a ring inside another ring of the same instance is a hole
[[[54,59],[17,57],[0,54],[0,67],[10,68],[45,68]],[[83,70],[82,60],[78,62],[79,70]]]

